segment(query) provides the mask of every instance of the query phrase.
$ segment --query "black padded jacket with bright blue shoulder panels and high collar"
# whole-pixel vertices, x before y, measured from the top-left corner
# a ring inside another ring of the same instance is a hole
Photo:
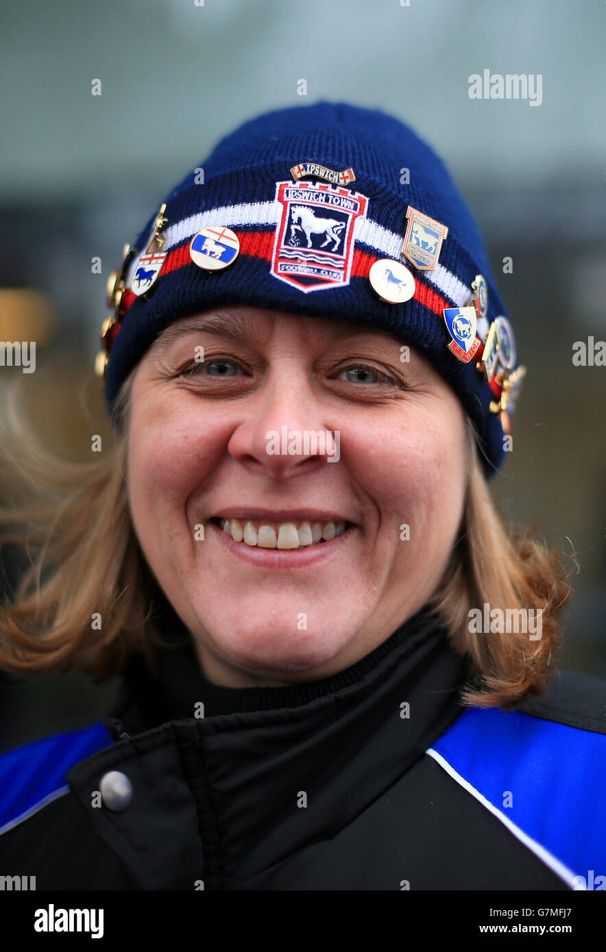
[[[38,890],[566,890],[589,863],[606,874],[601,808],[578,832],[582,796],[601,800],[602,682],[556,676],[520,712],[466,710],[469,665],[426,612],[309,684],[210,684],[187,637],[158,658],[155,675],[131,659],[101,724],[0,755],[6,873]],[[118,810],[98,793],[111,771],[131,783]],[[538,811],[536,783],[552,790]]]

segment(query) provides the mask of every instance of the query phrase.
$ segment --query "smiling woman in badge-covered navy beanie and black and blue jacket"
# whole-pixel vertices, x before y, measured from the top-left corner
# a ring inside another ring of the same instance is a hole
[[[7,868],[28,856],[38,889],[582,888],[606,858],[581,803],[602,711],[561,703],[574,679],[540,699],[569,590],[487,488],[524,371],[433,151],[378,110],[259,116],[109,296],[115,452],[39,517],[0,664],[124,691],[0,759]]]

